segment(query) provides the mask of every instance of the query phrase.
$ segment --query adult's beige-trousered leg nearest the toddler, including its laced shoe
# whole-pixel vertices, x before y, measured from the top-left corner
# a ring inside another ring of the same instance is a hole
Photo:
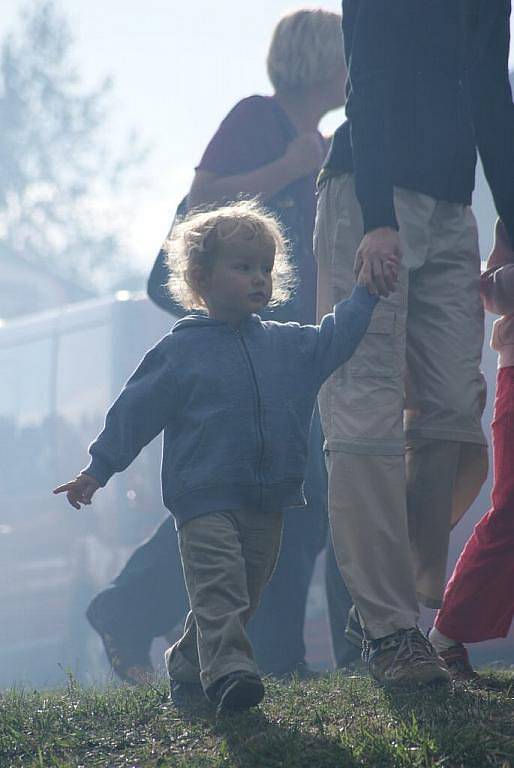
[[[402,419],[408,270],[425,257],[435,201],[395,190],[395,207],[403,250],[397,290],[377,305],[364,340],[319,402],[334,550],[363,624],[368,667],[381,682],[405,684],[447,680],[448,672],[417,628]],[[329,180],[315,228],[319,314],[350,294],[362,234],[353,179]]]

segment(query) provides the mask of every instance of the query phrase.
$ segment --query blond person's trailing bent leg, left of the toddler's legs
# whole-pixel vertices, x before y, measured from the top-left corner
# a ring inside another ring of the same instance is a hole
[[[173,585],[165,591],[165,585]],[[103,640],[114,671],[135,682],[151,671],[152,640],[188,610],[177,535],[167,516],[128,559],[113,583],[91,601],[87,617]]]

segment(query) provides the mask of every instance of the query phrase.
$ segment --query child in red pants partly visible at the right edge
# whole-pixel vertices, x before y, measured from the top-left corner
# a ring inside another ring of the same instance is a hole
[[[514,617],[514,247],[501,221],[487,266],[484,305],[502,315],[491,339],[499,352],[492,508],[466,542],[429,635],[458,679],[477,677],[464,643],[505,637]]]

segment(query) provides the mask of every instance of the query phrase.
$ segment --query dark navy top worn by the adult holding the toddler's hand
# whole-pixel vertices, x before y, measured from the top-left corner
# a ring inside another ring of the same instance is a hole
[[[514,242],[511,0],[343,0],[347,121],[324,173],[355,174],[365,231],[393,186],[469,204],[476,149]]]

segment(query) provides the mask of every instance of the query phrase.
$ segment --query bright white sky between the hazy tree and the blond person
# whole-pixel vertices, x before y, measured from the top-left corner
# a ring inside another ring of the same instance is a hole
[[[132,235],[149,265],[187,190],[194,165],[220,120],[251,93],[269,93],[265,56],[273,27],[291,0],[60,0],[76,38],[87,84],[114,80],[120,139],[137,128],[153,147],[144,204]],[[310,2],[305,3],[310,5]],[[339,11],[340,0],[314,2]],[[24,0],[4,0],[0,36]],[[514,64],[514,58],[513,58]],[[334,113],[322,126],[333,130]]]

